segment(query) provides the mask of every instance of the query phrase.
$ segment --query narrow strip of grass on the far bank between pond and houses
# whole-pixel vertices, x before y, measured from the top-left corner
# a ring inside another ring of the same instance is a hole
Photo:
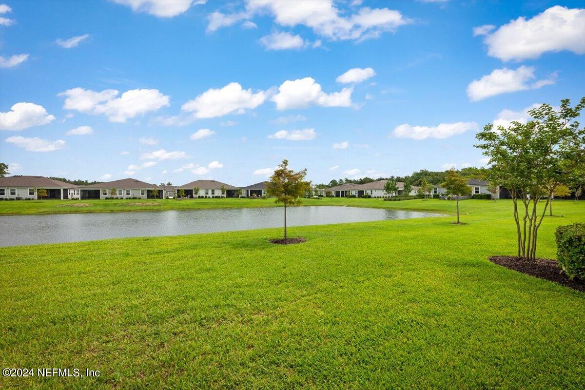
[[[0,215],[95,213],[118,211],[187,210],[209,208],[277,207],[274,199],[108,199],[82,201],[1,201]],[[388,202],[381,198],[321,198],[302,199],[302,206],[356,206],[371,208],[393,208],[405,210],[433,210],[453,212],[454,202],[439,199],[415,199],[412,201]],[[479,205],[478,205],[479,206]],[[487,211],[493,206],[483,201],[480,208]]]

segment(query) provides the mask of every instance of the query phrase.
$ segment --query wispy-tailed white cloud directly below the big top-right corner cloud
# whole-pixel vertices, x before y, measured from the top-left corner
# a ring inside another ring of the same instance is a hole
[[[555,84],[556,73],[547,79],[531,82],[536,77],[535,68],[522,65],[517,69],[495,69],[490,74],[473,80],[467,86],[467,96],[472,102],[489,98],[490,96],[506,94],[525,89],[538,89],[544,85]]]

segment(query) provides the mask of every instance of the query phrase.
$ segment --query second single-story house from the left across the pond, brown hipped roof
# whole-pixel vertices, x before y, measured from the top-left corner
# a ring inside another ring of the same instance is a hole
[[[81,199],[105,198],[157,198],[163,197],[163,189],[156,184],[150,184],[133,178],[113,180],[103,183],[90,184],[81,187]]]

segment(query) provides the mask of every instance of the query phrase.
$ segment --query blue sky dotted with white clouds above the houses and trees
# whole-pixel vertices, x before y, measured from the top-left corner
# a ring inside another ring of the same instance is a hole
[[[315,183],[480,166],[486,123],[585,95],[583,1],[0,4],[13,174],[249,185],[283,158]]]

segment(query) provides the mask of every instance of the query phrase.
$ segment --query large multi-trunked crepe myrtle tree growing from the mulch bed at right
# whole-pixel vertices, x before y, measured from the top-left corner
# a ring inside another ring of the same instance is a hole
[[[583,108],[585,97],[573,108],[562,100],[558,111],[542,104],[528,112],[525,124],[494,129],[489,123],[476,134],[481,141],[476,147],[490,158],[488,180],[510,189],[518,258],[535,260],[538,228],[555,188],[585,161],[585,129],[575,120]],[[540,202],[545,206],[539,209]]]

